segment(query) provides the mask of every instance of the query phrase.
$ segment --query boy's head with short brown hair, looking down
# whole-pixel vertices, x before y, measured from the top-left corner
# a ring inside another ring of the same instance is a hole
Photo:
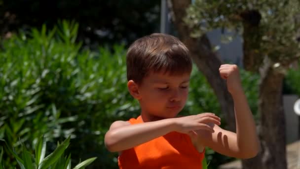
[[[142,114],[172,118],[185,106],[192,62],[177,38],[152,34],[135,41],[127,52],[127,79]]]

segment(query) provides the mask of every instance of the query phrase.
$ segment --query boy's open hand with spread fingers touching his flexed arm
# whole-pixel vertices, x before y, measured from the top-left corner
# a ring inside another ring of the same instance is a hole
[[[221,125],[220,118],[213,113],[202,113],[181,118],[174,118],[176,131],[189,134],[193,130],[208,130],[213,132],[213,128],[207,124],[213,123]]]

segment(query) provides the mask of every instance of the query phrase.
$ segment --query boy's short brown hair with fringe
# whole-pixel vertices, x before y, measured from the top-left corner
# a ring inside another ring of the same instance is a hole
[[[177,38],[151,34],[133,42],[126,56],[127,80],[141,83],[150,71],[170,75],[190,73],[192,61],[188,48]]]

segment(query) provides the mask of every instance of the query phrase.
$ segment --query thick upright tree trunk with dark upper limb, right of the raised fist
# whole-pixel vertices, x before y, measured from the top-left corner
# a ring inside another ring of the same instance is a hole
[[[259,11],[245,11],[243,18],[244,67],[247,71],[261,75],[259,113],[259,137],[262,152],[255,158],[243,160],[243,169],[287,169],[285,117],[282,102],[282,83],[284,75],[272,68],[270,60],[258,52],[262,31]],[[257,17],[253,17],[257,16]],[[256,18],[256,22],[253,22]],[[262,64],[263,63],[263,64]],[[261,67],[261,69],[260,69]]]

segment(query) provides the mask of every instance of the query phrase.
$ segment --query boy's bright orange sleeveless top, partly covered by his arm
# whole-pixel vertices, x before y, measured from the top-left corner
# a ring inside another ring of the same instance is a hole
[[[131,125],[143,123],[141,116]],[[122,151],[119,169],[202,169],[204,151],[199,153],[188,134],[176,131]]]

